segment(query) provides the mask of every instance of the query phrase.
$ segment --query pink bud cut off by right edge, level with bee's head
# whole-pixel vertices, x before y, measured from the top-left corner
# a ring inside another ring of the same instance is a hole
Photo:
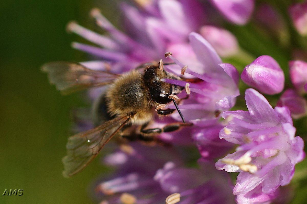
[[[289,62],[290,79],[299,93],[304,92],[307,83],[307,62],[296,60]]]

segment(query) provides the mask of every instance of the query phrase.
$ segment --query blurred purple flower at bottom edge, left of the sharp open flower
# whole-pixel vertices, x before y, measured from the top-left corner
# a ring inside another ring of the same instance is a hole
[[[180,204],[234,204],[228,175],[220,174],[223,172],[204,160],[199,160],[199,164],[201,169],[176,167],[168,162],[154,178],[165,192],[179,193]]]

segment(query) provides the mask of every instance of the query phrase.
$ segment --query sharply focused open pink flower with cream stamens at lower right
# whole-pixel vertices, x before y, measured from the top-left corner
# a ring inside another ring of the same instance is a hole
[[[240,172],[233,194],[244,194],[244,199],[252,200],[249,192],[259,185],[262,193],[269,196],[279,186],[289,184],[294,165],[305,158],[305,153],[303,140],[295,137],[288,108],[273,109],[254,89],[247,89],[245,94],[248,111],[224,112],[223,118],[229,124],[220,132],[220,138],[240,146],[235,153],[220,159],[216,168]]]

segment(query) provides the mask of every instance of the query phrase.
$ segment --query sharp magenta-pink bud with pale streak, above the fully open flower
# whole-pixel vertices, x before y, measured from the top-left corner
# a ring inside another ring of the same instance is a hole
[[[283,90],[285,75],[276,60],[262,55],[244,68],[241,79],[262,93],[273,95]]]

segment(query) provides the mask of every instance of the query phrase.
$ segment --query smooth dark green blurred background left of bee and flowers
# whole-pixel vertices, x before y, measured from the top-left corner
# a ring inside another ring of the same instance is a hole
[[[66,24],[76,20],[99,31],[88,15],[90,9],[100,8],[116,23],[116,4],[107,0],[0,1],[0,204],[98,203],[90,189],[104,170],[99,159],[70,179],[62,176],[69,112],[86,104],[78,94],[60,95],[40,66],[88,59],[70,47],[72,41],[84,40],[68,34]],[[5,189],[23,189],[23,195],[2,195]]]

